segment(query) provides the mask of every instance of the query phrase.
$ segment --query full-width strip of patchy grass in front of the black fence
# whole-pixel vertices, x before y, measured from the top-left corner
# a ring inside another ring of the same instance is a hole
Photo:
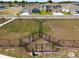
[[[79,58],[78,48],[61,48],[61,50],[58,52],[44,52],[38,54],[37,56],[32,56],[31,52],[25,52],[23,48],[0,48],[0,54],[15,58],[70,58],[70,56],[68,56],[70,52],[75,54],[74,58]]]

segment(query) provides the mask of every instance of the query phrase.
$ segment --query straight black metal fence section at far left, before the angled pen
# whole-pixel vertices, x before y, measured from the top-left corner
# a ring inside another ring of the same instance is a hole
[[[0,39],[0,47],[19,47],[19,40]]]

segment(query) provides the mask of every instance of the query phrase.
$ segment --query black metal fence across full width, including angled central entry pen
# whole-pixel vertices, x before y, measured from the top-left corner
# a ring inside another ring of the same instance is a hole
[[[39,38],[39,33],[37,33],[28,35],[23,39],[2,39],[0,40],[0,47],[23,47],[28,52],[31,52],[32,49],[36,52],[56,52],[61,47],[79,48],[79,40],[57,39],[45,33],[42,34],[41,38],[48,41],[49,44],[31,44]]]

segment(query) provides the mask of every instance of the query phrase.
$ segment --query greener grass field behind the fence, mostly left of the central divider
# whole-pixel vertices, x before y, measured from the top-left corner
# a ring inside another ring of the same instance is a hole
[[[50,31],[49,27],[43,27],[44,32]],[[0,28],[0,39],[21,39],[28,34],[38,32],[38,30],[38,22],[16,19]]]

